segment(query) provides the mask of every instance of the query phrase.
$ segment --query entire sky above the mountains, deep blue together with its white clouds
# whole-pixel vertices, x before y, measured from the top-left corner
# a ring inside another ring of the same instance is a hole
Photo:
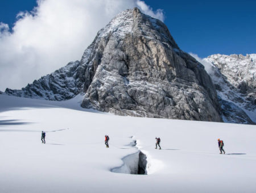
[[[21,89],[70,61],[80,60],[98,30],[119,12],[135,6],[155,18],[163,20],[164,16],[164,23],[185,52],[201,58],[216,53],[256,53],[255,0],[38,2],[0,0],[1,91]]]

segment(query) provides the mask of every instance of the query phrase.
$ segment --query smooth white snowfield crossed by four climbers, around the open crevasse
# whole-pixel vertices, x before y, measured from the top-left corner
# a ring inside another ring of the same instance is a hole
[[[256,192],[255,125],[114,116],[81,108],[82,97],[0,95],[0,192]],[[138,150],[148,175],[111,171]]]

